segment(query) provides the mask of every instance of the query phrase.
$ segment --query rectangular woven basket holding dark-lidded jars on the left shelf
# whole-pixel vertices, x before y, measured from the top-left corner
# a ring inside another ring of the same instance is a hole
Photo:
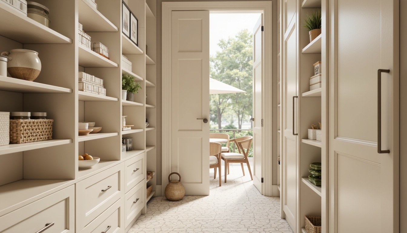
[[[54,120],[10,120],[10,143],[38,142],[52,139]]]

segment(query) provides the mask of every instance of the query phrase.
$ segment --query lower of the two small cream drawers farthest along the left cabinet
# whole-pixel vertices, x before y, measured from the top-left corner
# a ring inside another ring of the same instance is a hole
[[[144,208],[146,200],[146,184],[144,180],[127,192],[125,199],[125,225],[127,227],[137,216],[138,212]]]

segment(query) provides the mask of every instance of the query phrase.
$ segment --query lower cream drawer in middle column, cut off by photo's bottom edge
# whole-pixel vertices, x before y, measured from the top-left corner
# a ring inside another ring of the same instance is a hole
[[[124,233],[124,199],[120,198],[96,217],[80,233]],[[110,228],[109,228],[110,226]],[[107,230],[108,229],[108,230]],[[107,230],[107,231],[106,231]]]

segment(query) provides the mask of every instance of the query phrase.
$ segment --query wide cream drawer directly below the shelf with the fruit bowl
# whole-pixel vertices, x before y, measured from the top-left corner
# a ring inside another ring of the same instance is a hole
[[[76,184],[76,229],[88,223],[124,195],[124,163]]]

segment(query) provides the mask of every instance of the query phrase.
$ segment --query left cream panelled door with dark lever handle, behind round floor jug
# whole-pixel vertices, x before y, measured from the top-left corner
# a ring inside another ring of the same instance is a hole
[[[209,195],[209,11],[172,12],[171,77],[171,170],[186,195]]]

